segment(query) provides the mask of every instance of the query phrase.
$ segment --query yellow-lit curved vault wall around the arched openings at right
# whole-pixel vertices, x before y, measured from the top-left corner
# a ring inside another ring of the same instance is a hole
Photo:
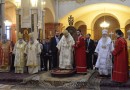
[[[88,6],[84,6],[68,13],[66,16],[61,18],[59,21],[68,26],[68,16],[72,15],[75,22],[83,21],[87,25],[87,32],[93,34],[93,25],[95,21],[104,15],[110,15],[119,21],[120,28],[125,33],[126,22],[130,19],[130,7],[112,4],[112,3],[98,3]],[[93,37],[93,36],[92,36]]]

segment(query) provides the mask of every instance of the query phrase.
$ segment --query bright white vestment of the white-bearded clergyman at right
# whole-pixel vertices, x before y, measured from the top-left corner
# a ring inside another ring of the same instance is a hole
[[[107,37],[105,41],[101,38],[97,44],[95,52],[98,53],[98,58],[96,62],[96,66],[99,69],[100,75],[108,75],[110,74],[110,70],[112,67],[112,54],[111,52],[114,50],[112,40]]]

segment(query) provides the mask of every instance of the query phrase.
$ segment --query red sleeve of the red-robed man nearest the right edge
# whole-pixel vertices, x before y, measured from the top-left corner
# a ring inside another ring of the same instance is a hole
[[[121,40],[118,40],[115,44],[115,49],[114,51],[112,52],[112,54],[114,56],[116,56],[118,53],[120,53],[120,51],[122,51],[124,49],[124,45],[123,45],[123,42]]]

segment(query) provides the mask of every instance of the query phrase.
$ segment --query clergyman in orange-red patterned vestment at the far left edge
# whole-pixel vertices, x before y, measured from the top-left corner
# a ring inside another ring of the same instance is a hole
[[[7,35],[3,34],[0,42],[0,72],[10,71],[11,52],[11,42],[7,40]]]

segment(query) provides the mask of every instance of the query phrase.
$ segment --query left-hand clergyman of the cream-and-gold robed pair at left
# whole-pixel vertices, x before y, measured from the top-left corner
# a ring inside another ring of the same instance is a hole
[[[23,35],[19,32],[18,41],[16,42],[13,53],[15,54],[14,67],[15,73],[24,73],[25,57],[24,50],[26,42],[23,40]]]

